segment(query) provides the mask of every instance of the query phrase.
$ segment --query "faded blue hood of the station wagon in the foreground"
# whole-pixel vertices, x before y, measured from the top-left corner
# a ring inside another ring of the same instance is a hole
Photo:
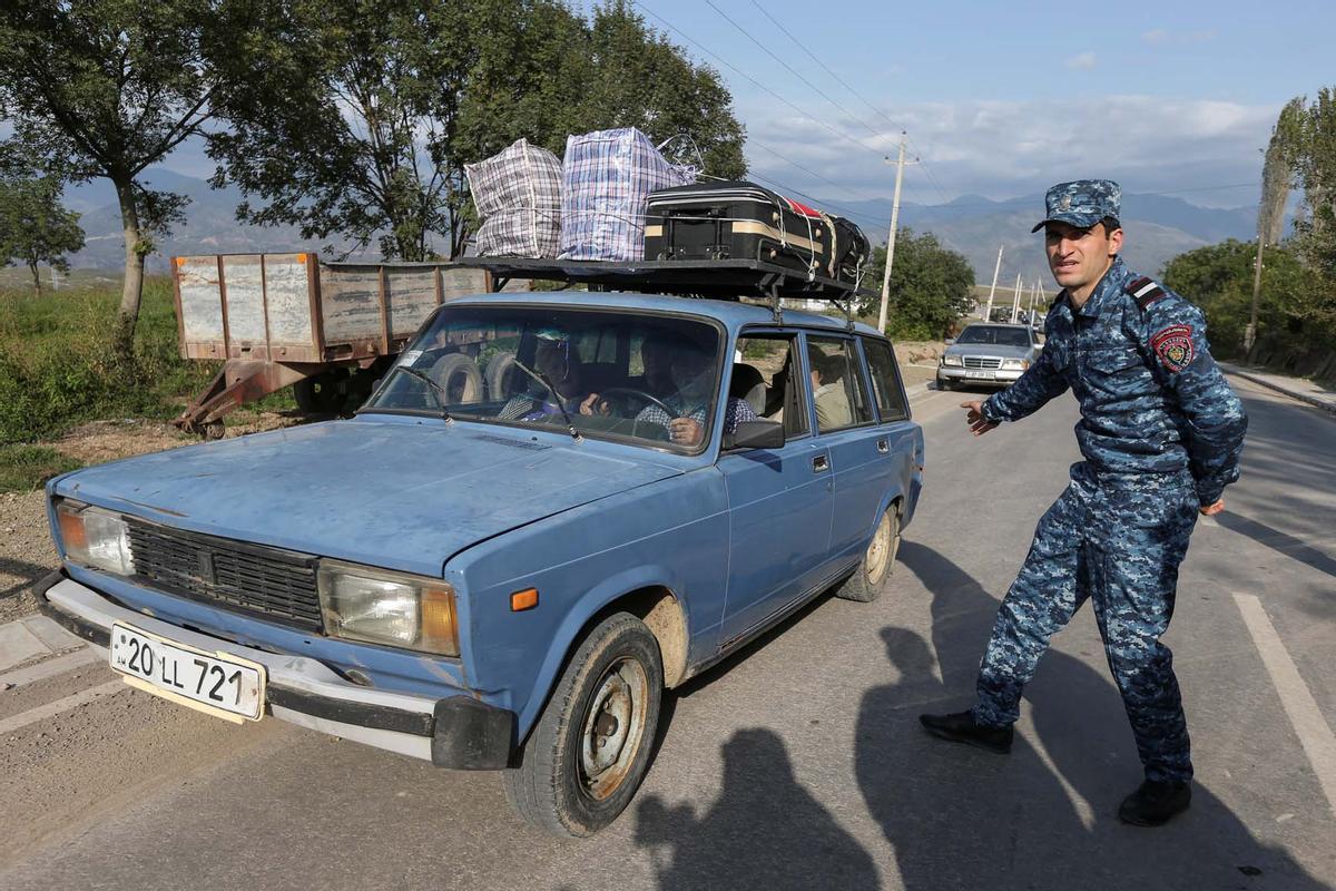
[[[438,576],[472,544],[680,473],[653,453],[544,439],[363,415],[87,468],[53,489],[192,532]]]

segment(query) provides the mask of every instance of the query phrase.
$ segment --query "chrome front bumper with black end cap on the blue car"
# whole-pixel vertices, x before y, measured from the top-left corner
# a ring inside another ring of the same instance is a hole
[[[43,578],[35,593],[43,613],[99,651],[108,648],[111,625],[119,621],[263,664],[269,676],[265,711],[279,720],[437,767],[492,771],[510,761],[516,717],[504,708],[469,696],[432,699],[353,684],[315,659],[243,647],[126,609],[59,570]]]

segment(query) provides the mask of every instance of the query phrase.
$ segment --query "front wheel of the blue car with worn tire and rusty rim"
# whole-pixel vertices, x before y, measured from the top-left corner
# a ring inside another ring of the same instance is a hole
[[[663,677],[659,641],[644,622],[629,613],[599,622],[561,672],[524,744],[520,767],[502,771],[510,807],[530,824],[561,836],[589,836],[617,819],[649,765]],[[620,708],[617,684],[637,691],[639,700],[628,697],[629,707]],[[615,692],[608,692],[609,685]],[[609,716],[612,736],[603,737],[609,724],[600,721]],[[619,743],[623,729],[625,739]],[[604,755],[593,744],[597,739],[611,743],[607,755],[617,757],[591,775],[588,759]]]

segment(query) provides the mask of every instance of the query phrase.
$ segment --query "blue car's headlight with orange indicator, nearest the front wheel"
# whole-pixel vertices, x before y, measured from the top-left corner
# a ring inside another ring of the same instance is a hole
[[[454,588],[440,578],[322,560],[317,585],[335,637],[460,655]]]

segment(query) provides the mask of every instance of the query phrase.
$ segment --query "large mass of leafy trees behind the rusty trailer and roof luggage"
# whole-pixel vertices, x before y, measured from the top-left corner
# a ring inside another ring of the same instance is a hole
[[[685,134],[712,174],[745,170],[723,81],[620,1],[587,21],[560,0],[275,0],[226,64],[208,152],[214,183],[247,194],[238,218],[378,239],[386,259],[461,252],[464,164],[521,136],[561,154],[568,134],[637,126]]]

